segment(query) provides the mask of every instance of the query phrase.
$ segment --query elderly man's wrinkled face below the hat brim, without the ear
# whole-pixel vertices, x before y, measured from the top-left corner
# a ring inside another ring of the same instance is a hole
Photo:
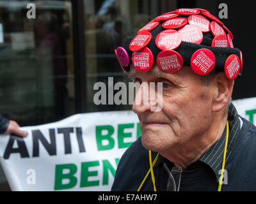
[[[216,87],[202,85],[199,75],[189,66],[183,66],[177,73],[164,73],[156,65],[147,73],[140,73],[131,66],[134,82],[163,82],[163,94],[157,101],[163,107],[159,112],[150,111],[152,106],[143,105],[139,97],[143,84],[136,93],[133,111],[138,114],[143,146],[159,153],[170,150],[186,150],[196,138],[205,135],[212,124],[212,98]],[[157,92],[157,89],[155,89]],[[157,96],[159,97],[159,96]],[[150,101],[150,99],[149,99]],[[138,105],[141,104],[141,105]],[[198,143],[198,146],[200,144]]]

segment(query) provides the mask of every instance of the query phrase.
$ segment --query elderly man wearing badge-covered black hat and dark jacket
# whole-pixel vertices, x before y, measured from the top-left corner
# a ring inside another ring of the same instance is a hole
[[[256,190],[256,128],[230,102],[243,68],[232,38],[209,11],[178,9],[115,50],[140,83],[133,111],[141,137],[120,159],[112,191]],[[150,82],[163,89],[144,103]]]

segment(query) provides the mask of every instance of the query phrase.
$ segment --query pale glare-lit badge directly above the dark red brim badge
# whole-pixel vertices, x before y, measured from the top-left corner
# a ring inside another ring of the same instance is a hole
[[[174,50],[180,46],[182,37],[178,31],[169,29],[156,36],[156,46],[160,50]]]

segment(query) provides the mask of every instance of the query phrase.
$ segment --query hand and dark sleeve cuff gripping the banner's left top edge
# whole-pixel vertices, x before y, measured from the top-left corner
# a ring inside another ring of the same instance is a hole
[[[27,136],[28,132],[19,129],[20,126],[14,120],[8,120],[0,115],[0,134],[10,135],[15,134],[18,136]]]

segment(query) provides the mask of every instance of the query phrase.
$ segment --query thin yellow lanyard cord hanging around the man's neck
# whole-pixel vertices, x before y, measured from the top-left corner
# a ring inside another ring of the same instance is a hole
[[[222,186],[222,182],[223,182],[223,173],[224,173],[224,168],[225,168],[225,161],[226,161],[226,154],[227,154],[227,146],[228,146],[228,132],[229,132],[229,128],[228,128],[228,121],[227,121],[227,133],[226,133],[226,141],[225,141],[225,148],[224,148],[224,154],[223,154],[223,161],[222,161],[222,166],[221,166],[221,177],[219,180],[219,186],[218,186],[218,191],[221,191],[221,186]],[[155,166],[157,159],[158,159],[159,153],[157,153],[156,158],[154,159],[153,163],[152,163],[152,156],[151,156],[151,151],[148,151],[148,157],[149,157],[149,164],[150,164],[150,168],[146,174],[146,176],[144,177],[144,179],[142,180],[140,187],[138,188],[137,191],[140,191],[141,187],[143,186],[143,184],[145,183],[145,181],[147,180],[147,177],[149,175],[149,173],[151,173],[151,179],[152,179],[152,183],[154,186],[154,191],[156,191],[156,182],[155,182],[155,177],[154,177],[154,171],[153,171],[153,167]]]

